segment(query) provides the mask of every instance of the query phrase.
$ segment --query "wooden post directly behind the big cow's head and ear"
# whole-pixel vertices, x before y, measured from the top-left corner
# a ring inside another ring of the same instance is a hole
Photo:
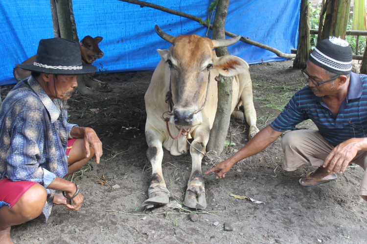
[[[227,18],[229,0],[219,0],[213,22],[213,39],[225,39],[224,25]],[[227,47],[215,48],[218,57],[229,55]],[[218,108],[215,114],[213,127],[210,130],[209,142],[206,151],[214,150],[219,154],[223,152],[226,141],[232,103],[232,77],[219,75],[218,82]]]

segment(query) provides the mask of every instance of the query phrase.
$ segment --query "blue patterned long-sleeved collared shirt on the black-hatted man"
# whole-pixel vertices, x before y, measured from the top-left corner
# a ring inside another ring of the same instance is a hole
[[[31,181],[45,188],[68,172],[70,124],[65,101],[51,100],[32,76],[20,81],[0,106],[0,180]],[[46,189],[46,221],[55,191]]]

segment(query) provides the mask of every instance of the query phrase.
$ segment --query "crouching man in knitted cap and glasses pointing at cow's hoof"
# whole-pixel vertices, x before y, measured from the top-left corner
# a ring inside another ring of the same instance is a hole
[[[264,150],[284,131],[284,170],[302,166],[318,167],[299,179],[302,186],[335,180],[349,163],[367,167],[367,76],[351,73],[352,50],[348,42],[330,37],[317,44],[302,74],[308,86],[298,91],[269,126],[262,129],[241,150],[218,163],[214,172],[224,178],[238,161]],[[294,130],[304,120],[312,120],[318,130]],[[359,195],[367,201],[367,176]]]

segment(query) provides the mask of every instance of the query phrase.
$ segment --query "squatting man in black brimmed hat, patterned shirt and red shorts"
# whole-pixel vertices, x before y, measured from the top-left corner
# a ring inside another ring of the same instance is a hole
[[[78,210],[79,187],[63,178],[93,155],[99,163],[102,143],[92,128],[68,123],[66,101],[76,77],[97,68],[82,64],[79,44],[61,38],[41,40],[32,71],[0,107],[0,243],[12,243],[10,227],[39,216],[46,221],[52,204]],[[55,191],[63,192],[55,194]]]

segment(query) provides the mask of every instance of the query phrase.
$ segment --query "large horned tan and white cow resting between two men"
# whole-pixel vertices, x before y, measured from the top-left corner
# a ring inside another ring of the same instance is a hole
[[[172,43],[172,46],[168,50],[158,49],[162,59],[153,73],[144,97],[147,112],[145,136],[149,146],[147,156],[153,172],[148,189],[149,199],[143,204],[149,208],[169,202],[169,191],[161,168],[162,146],[164,146],[172,155],[185,154],[190,149],[192,170],[187,183],[184,204],[191,208],[205,209],[206,196],[201,170],[203,158],[201,152],[206,150],[217,110],[218,93],[214,78],[219,74],[234,76],[232,111],[243,102],[246,121],[250,125],[249,134],[253,137],[259,130],[256,127],[256,112],[252,102],[249,65],[235,56],[218,58],[213,51],[215,47],[236,43],[239,36],[227,40],[210,40],[197,35],[173,37],[161,31],[157,25],[155,29],[158,35]],[[169,90],[172,92],[174,105],[172,111],[165,113],[167,111],[165,97]],[[207,92],[206,105],[200,110],[206,100]],[[173,137],[179,135],[180,129],[184,131],[189,129],[187,138],[194,138],[190,147],[183,134],[176,140],[169,136],[162,114],[163,117],[169,117],[169,131]]]

